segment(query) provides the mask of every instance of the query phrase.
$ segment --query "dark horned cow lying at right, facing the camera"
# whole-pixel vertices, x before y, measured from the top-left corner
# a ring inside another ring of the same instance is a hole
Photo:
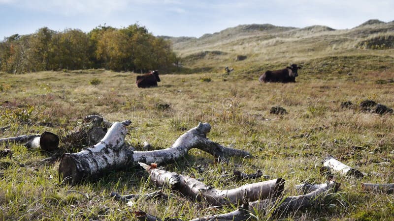
[[[292,64],[282,70],[277,71],[266,71],[262,76],[260,76],[260,82],[296,82],[296,77],[298,76],[297,70],[301,69],[301,66]]]

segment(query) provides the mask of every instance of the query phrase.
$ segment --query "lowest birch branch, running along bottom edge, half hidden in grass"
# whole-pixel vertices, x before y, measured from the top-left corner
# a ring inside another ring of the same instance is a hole
[[[197,218],[191,221],[246,221],[251,219],[256,212],[268,213],[269,211],[272,211],[272,216],[283,217],[291,212],[304,210],[320,204],[329,193],[336,191],[333,186],[335,186],[335,182],[331,181],[326,188],[320,188],[308,194],[257,200],[245,203],[237,210],[230,213]],[[142,211],[134,212],[134,216],[139,221],[145,219],[147,221],[161,221],[161,219],[148,215]],[[165,218],[164,220],[177,221],[179,219]]]

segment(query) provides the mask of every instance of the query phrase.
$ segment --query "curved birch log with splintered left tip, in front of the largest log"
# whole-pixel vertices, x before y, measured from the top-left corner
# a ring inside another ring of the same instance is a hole
[[[243,204],[258,199],[278,197],[282,194],[285,185],[285,180],[277,178],[246,184],[231,190],[219,190],[192,177],[159,169],[155,164],[150,166],[143,163],[139,164],[150,173],[150,179],[153,183],[159,186],[169,185],[173,191],[178,191],[193,199],[206,201],[215,206]]]

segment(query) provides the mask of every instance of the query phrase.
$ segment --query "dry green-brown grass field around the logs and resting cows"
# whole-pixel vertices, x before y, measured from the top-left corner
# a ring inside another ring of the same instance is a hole
[[[242,61],[230,75],[223,73],[225,64],[215,60],[217,56],[197,59],[185,63],[180,73],[161,75],[159,87],[148,89],[135,86],[134,73],[100,69],[0,73],[0,128],[10,126],[0,130],[0,138],[44,131],[62,135],[80,125],[84,116],[99,113],[109,121],[130,119],[126,139],[136,149],[141,150],[144,141],[162,149],[199,121],[209,122],[211,140],[254,156],[232,162],[242,165],[244,172],[261,169],[272,179],[282,177],[285,195],[296,194],[295,185],[302,182],[325,182],[319,167],[328,154],[367,174],[361,179],[337,174],[336,180],[342,184],[338,193],[322,205],[280,219],[392,220],[393,195],[365,193],[360,184],[394,182],[394,115],[359,108],[365,99],[394,107],[392,52],[343,49],[337,55],[322,56],[320,51],[308,56],[305,50],[297,58],[304,68],[296,83],[288,84],[258,81],[264,70],[292,62],[279,59],[281,53],[272,62]],[[225,56],[230,59],[232,55]],[[191,71],[205,62],[212,66],[209,71]],[[354,107],[341,108],[345,101]],[[274,106],[285,108],[288,114],[270,114]],[[110,198],[109,193],[157,189],[139,169],[109,171],[97,181],[69,186],[58,181],[59,161],[40,163],[51,153],[23,145],[8,147],[12,158],[0,159],[0,220],[133,220],[132,212],[138,209],[161,218],[188,220],[236,208],[210,207],[180,194],[167,200],[141,198],[129,205]],[[165,168],[204,177],[207,184],[220,189],[254,182],[213,179],[232,173],[234,165],[215,164],[213,157],[198,150]],[[267,213],[256,219],[279,218]]]

